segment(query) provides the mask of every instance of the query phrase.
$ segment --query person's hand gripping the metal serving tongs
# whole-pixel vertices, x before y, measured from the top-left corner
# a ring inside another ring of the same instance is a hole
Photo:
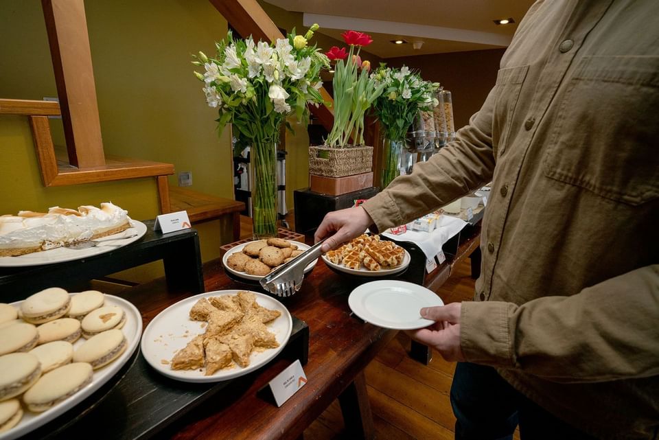
[[[373,224],[373,219],[362,207],[340,209],[327,213],[321,225],[316,229],[314,240],[317,243],[323,238],[329,237],[321,246],[321,251],[327,252],[337,248],[341,243],[358,237],[371,224]],[[333,232],[334,235],[332,235]]]

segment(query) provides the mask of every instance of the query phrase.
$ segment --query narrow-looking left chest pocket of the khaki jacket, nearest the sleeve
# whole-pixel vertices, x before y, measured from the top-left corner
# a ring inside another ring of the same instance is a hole
[[[494,118],[492,121],[492,148],[494,158],[502,152],[510,134],[511,121],[520,98],[524,78],[529,66],[509,67],[496,73],[496,99],[494,100]]]

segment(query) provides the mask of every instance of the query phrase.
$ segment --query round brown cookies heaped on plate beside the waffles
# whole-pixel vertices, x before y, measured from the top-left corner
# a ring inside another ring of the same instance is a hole
[[[238,272],[262,277],[301,253],[303,251],[288,240],[268,238],[268,240],[250,242],[242,248],[242,251],[229,255],[227,266]]]

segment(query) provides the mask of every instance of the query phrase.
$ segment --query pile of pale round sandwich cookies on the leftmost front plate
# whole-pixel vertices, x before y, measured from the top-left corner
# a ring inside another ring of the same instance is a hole
[[[19,423],[23,408],[41,413],[77,393],[126,350],[126,313],[104,303],[101,292],[60,288],[18,308],[0,303],[0,432]]]

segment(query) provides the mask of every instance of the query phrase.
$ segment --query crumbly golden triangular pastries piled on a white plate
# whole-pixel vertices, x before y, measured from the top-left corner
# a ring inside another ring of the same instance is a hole
[[[205,368],[205,375],[213,375],[235,364],[247,367],[252,351],[279,347],[266,324],[280,315],[279,310],[259,305],[252,292],[204,297],[192,306],[189,316],[193,321],[206,321],[206,331],[176,352],[172,369]]]

